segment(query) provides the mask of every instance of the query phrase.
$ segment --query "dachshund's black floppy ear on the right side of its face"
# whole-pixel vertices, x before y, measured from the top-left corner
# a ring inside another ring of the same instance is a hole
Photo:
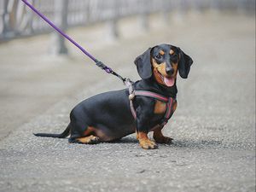
[[[179,51],[178,73],[183,79],[187,79],[189,75],[190,66],[193,60],[189,55],[186,55],[182,49],[177,48]]]

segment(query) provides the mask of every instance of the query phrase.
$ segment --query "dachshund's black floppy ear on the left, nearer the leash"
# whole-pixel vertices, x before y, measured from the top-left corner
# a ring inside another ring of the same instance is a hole
[[[149,79],[152,76],[150,52],[151,48],[148,48],[143,55],[137,56],[136,60],[134,61],[135,65],[137,66],[137,73],[139,73],[142,79]]]

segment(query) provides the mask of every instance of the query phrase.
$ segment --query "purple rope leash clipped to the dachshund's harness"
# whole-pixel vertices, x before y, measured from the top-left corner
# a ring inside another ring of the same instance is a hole
[[[55,29],[55,31],[59,32],[64,38],[67,38],[67,40],[69,40],[72,44],[74,44],[77,48],[79,48],[85,55],[90,57],[91,60],[95,61],[98,67],[101,67],[107,73],[111,73],[117,76],[119,79],[123,81],[123,83],[125,83],[126,79],[122,78],[118,73],[113,72],[113,70],[110,67],[105,66],[102,63],[102,61],[96,60],[96,58],[93,55],[90,55],[89,52],[87,52],[82,46],[80,46],[77,42],[75,42],[72,38],[70,38],[65,32],[62,32],[59,27],[55,26],[53,22],[51,22],[47,17],[41,14],[37,9],[35,9],[32,6],[32,4],[28,3],[26,0],[21,0],[21,1],[25,3],[30,9],[32,9],[37,15],[39,15],[43,20],[45,20],[50,26],[52,26]]]

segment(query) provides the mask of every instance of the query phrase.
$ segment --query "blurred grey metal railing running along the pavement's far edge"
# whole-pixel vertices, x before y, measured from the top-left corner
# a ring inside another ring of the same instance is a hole
[[[255,0],[27,0],[57,26],[86,26],[108,21],[117,36],[116,20],[129,15],[140,15],[146,27],[147,15],[161,12],[166,15],[174,9],[242,9],[255,12]],[[32,10],[20,0],[0,0],[0,42],[12,38],[51,32]]]

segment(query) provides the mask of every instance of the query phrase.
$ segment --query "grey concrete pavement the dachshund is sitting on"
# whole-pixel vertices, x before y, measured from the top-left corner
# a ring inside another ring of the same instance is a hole
[[[1,44],[0,191],[255,191],[255,19],[184,19],[163,26],[154,17],[146,35],[125,20],[117,42],[102,42],[101,26],[70,31],[131,79],[134,58],[154,44],[193,57],[165,129],[174,143],[156,150],[140,148],[134,135],[97,145],[33,137],[61,132],[77,102],[123,86],[73,47],[67,57],[46,55],[47,36]]]

